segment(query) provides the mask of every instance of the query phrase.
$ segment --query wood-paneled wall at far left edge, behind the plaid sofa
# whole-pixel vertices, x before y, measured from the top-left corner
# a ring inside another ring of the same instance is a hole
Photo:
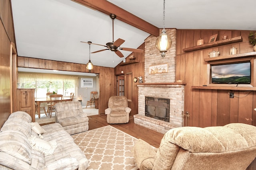
[[[0,127],[11,113],[11,42],[15,42],[10,0],[0,0]]]

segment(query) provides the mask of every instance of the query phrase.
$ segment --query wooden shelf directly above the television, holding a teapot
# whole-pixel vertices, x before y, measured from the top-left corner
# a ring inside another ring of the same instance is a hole
[[[239,59],[239,58],[246,58],[246,57],[256,57],[256,52],[242,53],[242,54],[236,54],[236,55],[225,55],[225,56],[212,57],[212,58],[205,58],[204,61],[206,61],[206,62],[222,61],[222,60]]]

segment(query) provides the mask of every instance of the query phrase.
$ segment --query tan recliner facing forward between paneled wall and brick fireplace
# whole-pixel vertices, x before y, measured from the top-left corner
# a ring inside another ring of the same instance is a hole
[[[108,108],[105,109],[107,122],[110,124],[128,123],[130,111],[125,96],[111,96],[108,100]]]

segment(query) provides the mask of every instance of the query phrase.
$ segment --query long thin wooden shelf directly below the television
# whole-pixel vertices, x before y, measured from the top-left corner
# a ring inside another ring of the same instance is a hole
[[[256,87],[231,87],[231,86],[192,86],[192,89],[256,91]]]

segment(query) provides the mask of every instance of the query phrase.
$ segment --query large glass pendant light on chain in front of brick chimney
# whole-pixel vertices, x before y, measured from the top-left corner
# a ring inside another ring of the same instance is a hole
[[[165,10],[165,0],[164,0],[164,10]],[[165,12],[164,12],[164,17],[165,17]],[[165,56],[165,53],[168,51],[168,49],[170,49],[171,45],[172,45],[172,39],[166,33],[166,30],[164,29],[164,24],[163,24],[162,33],[156,39],[156,48],[160,51],[161,56],[163,58]]]

